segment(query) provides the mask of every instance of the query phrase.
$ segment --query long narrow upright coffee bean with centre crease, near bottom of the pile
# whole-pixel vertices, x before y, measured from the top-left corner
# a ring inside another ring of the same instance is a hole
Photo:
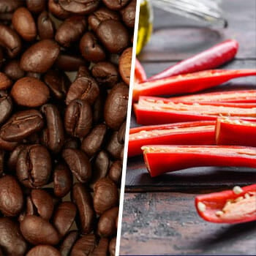
[[[78,226],[83,234],[91,232],[94,226],[95,213],[91,193],[84,184],[76,183],[72,189],[72,200],[78,206]]]

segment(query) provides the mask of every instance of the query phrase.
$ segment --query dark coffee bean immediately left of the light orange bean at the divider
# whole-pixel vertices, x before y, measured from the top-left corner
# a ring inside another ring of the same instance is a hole
[[[99,84],[112,88],[118,82],[118,69],[110,62],[99,62],[92,69],[91,73]]]

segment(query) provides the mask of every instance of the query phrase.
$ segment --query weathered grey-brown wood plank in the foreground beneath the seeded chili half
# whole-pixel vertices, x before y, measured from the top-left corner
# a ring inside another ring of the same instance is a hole
[[[194,197],[126,194],[120,255],[256,255],[256,222],[205,222],[195,211]]]

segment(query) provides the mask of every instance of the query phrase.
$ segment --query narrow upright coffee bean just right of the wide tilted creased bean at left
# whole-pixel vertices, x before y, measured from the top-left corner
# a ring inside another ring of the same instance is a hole
[[[44,130],[45,146],[53,153],[58,153],[64,144],[64,126],[59,110],[56,105],[46,104],[42,106],[41,111],[47,121],[47,128]]]

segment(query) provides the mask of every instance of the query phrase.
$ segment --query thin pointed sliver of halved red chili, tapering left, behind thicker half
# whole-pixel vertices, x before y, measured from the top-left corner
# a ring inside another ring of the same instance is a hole
[[[181,97],[171,97],[173,102],[237,102],[255,103],[256,90],[217,91],[207,94],[193,94]]]

